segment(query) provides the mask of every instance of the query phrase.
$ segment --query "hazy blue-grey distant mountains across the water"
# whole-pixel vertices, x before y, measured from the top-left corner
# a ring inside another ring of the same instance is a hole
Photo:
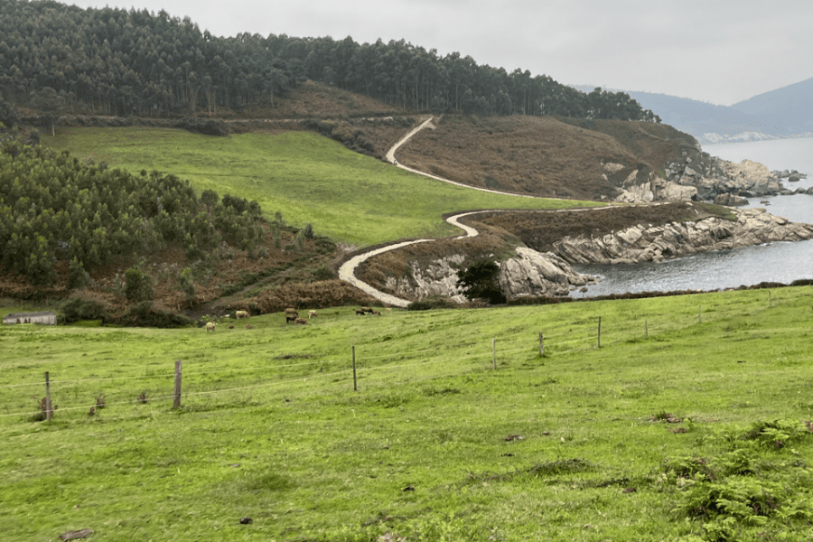
[[[594,88],[573,87],[585,92]],[[813,78],[730,107],[666,94],[623,92],[638,100],[644,109],[651,109],[665,124],[694,135],[701,144],[813,136]]]

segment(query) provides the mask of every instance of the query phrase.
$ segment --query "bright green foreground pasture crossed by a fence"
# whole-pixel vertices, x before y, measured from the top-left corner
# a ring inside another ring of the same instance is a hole
[[[0,532],[808,540],[813,288],[771,294],[4,326]],[[45,371],[58,408],[35,422]]]

